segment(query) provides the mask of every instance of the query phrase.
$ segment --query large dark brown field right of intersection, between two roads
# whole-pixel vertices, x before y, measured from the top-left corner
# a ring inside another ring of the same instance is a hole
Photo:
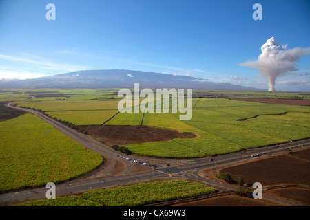
[[[310,149],[296,151],[288,155],[279,155],[260,159],[247,164],[223,168],[234,181],[242,175],[246,184],[258,181],[262,186],[284,184],[303,184],[310,186]]]

